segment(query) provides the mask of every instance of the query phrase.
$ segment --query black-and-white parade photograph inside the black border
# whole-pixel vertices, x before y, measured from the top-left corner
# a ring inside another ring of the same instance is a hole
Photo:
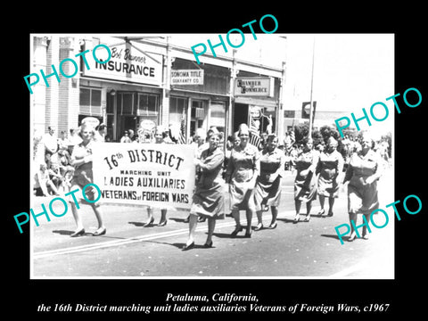
[[[30,35],[32,277],[394,276],[393,35],[270,31]]]

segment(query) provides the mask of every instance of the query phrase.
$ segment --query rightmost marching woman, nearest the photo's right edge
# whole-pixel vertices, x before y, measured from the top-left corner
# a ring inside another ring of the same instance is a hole
[[[357,225],[358,213],[362,213],[366,222],[372,211],[379,208],[377,198],[377,180],[382,176],[382,161],[373,150],[374,141],[367,134],[363,134],[361,150],[354,152],[350,157],[350,164],[346,170],[343,184],[348,184],[348,213],[350,222]],[[350,224],[349,242],[355,239],[354,226]],[[367,226],[363,226],[362,237],[368,239]]]

